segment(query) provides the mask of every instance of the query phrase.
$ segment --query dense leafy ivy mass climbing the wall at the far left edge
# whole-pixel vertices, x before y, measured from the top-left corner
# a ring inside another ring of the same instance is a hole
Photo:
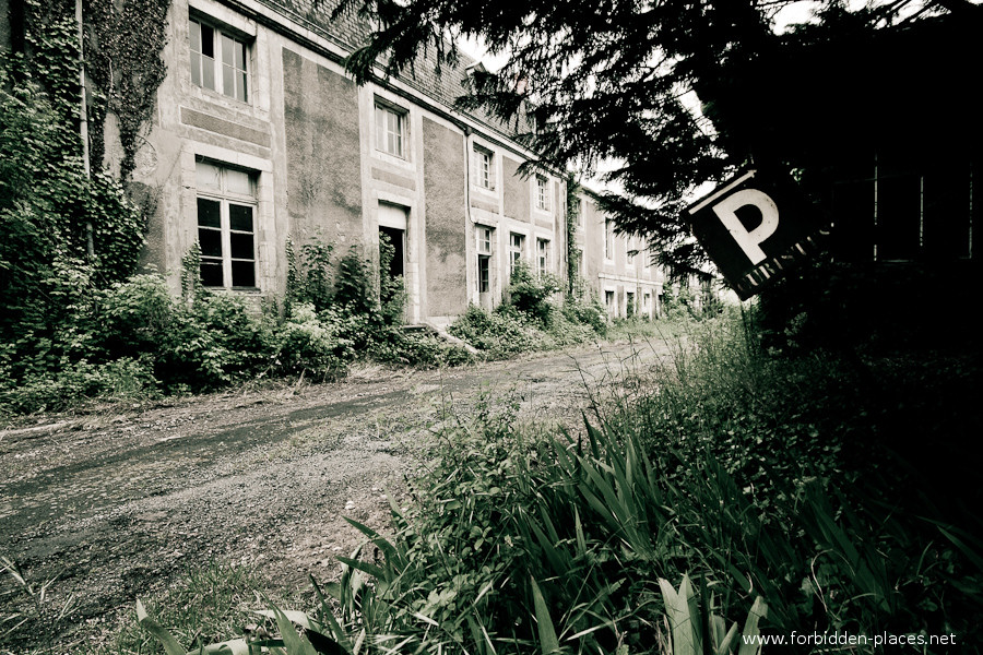
[[[100,289],[132,275],[145,228],[120,181],[83,166],[73,3],[24,0],[19,9],[23,47],[0,49],[0,379],[8,384],[85,361],[90,331],[78,317]]]

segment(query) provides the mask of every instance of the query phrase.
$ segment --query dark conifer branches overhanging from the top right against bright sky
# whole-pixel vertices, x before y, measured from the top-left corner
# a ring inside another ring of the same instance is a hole
[[[343,0],[335,15],[357,7],[379,26],[348,60],[359,82],[372,78],[377,61],[388,75],[412,74],[424,53],[454,66],[461,37],[507,53],[497,73],[474,74],[459,107],[511,121],[540,153],[526,167],[592,172],[615,162],[605,178],[623,191],[605,194],[603,209],[619,231],[649,238],[663,263],[691,266],[701,253],[686,238],[682,210],[698,186],[754,165],[796,172],[807,192],[822,188],[832,153],[858,146],[849,93],[864,95],[857,71],[871,39],[949,13],[975,29],[983,13],[966,0],[895,0],[858,11],[826,0],[817,3],[818,24],[778,34],[772,19],[792,3]],[[967,36],[963,47],[974,43]],[[936,38],[920,56],[951,40]],[[824,68],[830,57],[837,68]]]

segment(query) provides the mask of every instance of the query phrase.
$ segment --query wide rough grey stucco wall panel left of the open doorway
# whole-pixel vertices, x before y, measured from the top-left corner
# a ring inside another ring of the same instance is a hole
[[[287,211],[299,238],[362,243],[362,164],[355,84],[283,49]]]

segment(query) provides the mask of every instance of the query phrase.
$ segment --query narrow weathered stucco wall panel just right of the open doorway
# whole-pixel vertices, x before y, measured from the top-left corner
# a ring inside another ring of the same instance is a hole
[[[424,118],[427,314],[467,309],[465,169],[462,135]]]

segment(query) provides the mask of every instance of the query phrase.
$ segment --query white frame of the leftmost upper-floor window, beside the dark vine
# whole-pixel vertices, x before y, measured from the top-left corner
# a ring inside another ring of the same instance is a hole
[[[205,55],[204,28],[211,32],[212,56]],[[252,80],[249,62],[252,50],[251,37],[194,13],[188,17],[188,49],[192,84],[239,103],[251,102]],[[237,56],[241,56],[241,60]],[[211,69],[211,86],[209,69]]]

